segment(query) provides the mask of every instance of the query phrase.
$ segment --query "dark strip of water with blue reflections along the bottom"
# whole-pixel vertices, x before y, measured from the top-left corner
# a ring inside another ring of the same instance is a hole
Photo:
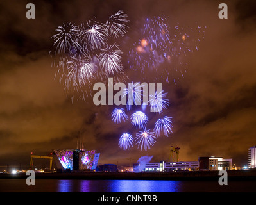
[[[0,192],[256,192],[256,181],[0,179]]]

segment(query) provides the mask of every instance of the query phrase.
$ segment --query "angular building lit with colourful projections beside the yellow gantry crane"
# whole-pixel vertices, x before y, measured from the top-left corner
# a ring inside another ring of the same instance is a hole
[[[95,170],[99,153],[95,150],[54,149],[56,167],[61,170]]]

